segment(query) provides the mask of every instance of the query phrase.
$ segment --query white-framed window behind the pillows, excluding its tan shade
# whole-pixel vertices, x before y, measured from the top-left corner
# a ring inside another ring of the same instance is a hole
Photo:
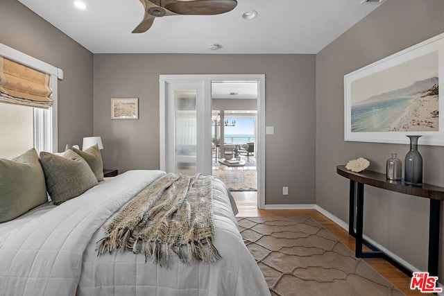
[[[53,105],[48,109],[0,103],[0,157],[12,158],[34,147],[57,150],[57,84],[63,71],[0,43],[0,56],[50,75]]]

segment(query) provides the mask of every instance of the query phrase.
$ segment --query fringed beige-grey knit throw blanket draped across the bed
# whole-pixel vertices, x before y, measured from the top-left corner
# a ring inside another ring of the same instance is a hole
[[[170,251],[185,264],[214,262],[212,176],[168,173],[123,207],[98,241],[99,254],[120,249],[170,267]]]

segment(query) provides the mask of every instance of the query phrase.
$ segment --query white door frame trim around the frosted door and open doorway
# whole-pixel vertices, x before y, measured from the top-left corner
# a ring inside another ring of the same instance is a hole
[[[203,81],[205,99],[204,106],[200,110],[205,112],[205,134],[210,134],[211,138],[211,112],[212,112],[212,81],[255,81],[257,82],[257,207],[265,208],[265,74],[187,74],[187,75],[160,75],[160,169],[166,168],[166,148],[167,138],[165,137],[167,127],[166,115],[166,96],[168,83],[171,82],[190,82]],[[211,159],[211,141],[204,143],[205,159]],[[210,172],[210,173],[208,173]],[[205,175],[211,174],[211,162],[208,162],[208,168],[205,166],[203,172]]]

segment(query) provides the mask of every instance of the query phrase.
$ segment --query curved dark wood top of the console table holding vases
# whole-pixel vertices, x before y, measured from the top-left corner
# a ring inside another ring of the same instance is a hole
[[[386,174],[364,170],[359,173],[349,171],[344,165],[336,166],[336,173],[352,181],[399,193],[416,195],[433,200],[444,200],[444,187],[422,183],[422,186],[411,186],[401,181],[387,180]]]

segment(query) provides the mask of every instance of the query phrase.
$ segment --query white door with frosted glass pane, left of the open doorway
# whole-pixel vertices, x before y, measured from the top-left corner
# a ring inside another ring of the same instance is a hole
[[[205,99],[206,93],[211,96],[210,89],[205,92],[204,80],[167,80],[161,84],[165,94],[160,110],[165,118],[160,168],[185,175],[211,175],[211,163],[207,162],[211,158],[211,132],[207,128],[211,128],[211,100]]]

